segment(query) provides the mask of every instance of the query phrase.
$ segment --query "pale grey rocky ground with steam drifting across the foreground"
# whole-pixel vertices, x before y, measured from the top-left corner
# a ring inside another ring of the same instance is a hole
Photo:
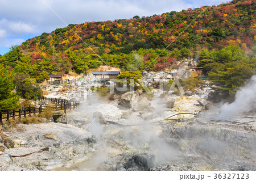
[[[216,121],[195,95],[139,93],[2,132],[0,170],[256,170],[255,113]]]

